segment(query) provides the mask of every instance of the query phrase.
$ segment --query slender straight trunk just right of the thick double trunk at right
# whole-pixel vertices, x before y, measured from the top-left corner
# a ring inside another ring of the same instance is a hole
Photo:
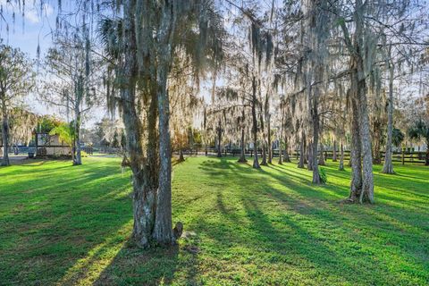
[[[393,164],[391,162],[391,137],[393,133],[393,64],[389,65],[389,106],[387,109],[387,142],[386,142],[386,154],[384,156],[383,171],[384,173],[395,173],[393,172]]]

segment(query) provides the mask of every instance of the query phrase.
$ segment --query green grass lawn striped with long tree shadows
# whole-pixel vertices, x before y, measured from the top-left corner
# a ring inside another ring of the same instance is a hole
[[[30,161],[33,162],[33,161]],[[235,159],[173,168],[169,249],[129,242],[130,172],[119,158],[0,168],[1,285],[428,285],[429,168],[374,166],[373,206],[343,205],[349,168],[315,187],[296,164]]]

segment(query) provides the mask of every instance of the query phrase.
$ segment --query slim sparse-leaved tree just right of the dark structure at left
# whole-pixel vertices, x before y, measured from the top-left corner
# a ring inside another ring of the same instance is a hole
[[[46,55],[46,79],[39,96],[48,105],[58,106],[74,125],[71,157],[74,165],[82,164],[80,156],[80,127],[100,97],[100,61],[92,53],[83,26],[75,32],[58,34],[55,46]]]

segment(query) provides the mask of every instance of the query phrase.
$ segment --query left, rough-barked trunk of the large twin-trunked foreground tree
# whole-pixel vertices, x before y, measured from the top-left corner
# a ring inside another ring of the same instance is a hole
[[[124,20],[123,20],[123,53],[124,61],[121,67],[120,76],[123,84],[121,86],[121,112],[122,120],[125,126],[127,153],[130,160],[130,169],[132,171],[132,187],[133,187],[133,216],[134,225],[132,237],[140,247],[148,247],[152,240],[152,233],[155,225],[155,210],[156,210],[156,188],[157,181],[155,180],[156,172],[154,172],[153,156],[154,151],[153,141],[149,132],[148,136],[148,157],[147,162],[144,158],[142,136],[143,130],[136,107],[136,77],[137,77],[137,61],[136,61],[136,38],[134,35],[134,12],[135,0],[124,1]],[[154,100],[152,96],[152,100]],[[155,101],[156,103],[156,101]],[[155,105],[157,108],[157,106]],[[148,130],[156,130],[154,122],[156,122],[156,109],[154,110],[154,101],[151,102],[148,119]]]

